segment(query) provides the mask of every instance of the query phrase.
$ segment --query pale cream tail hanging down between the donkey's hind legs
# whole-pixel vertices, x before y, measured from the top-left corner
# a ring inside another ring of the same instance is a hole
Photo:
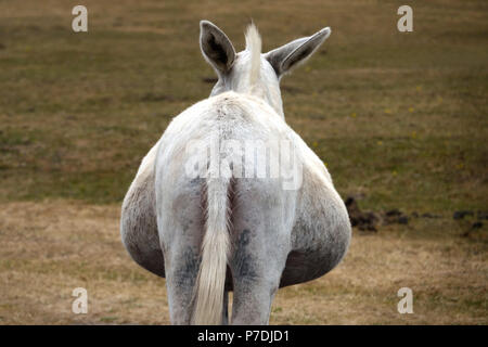
[[[207,178],[207,218],[195,286],[193,324],[221,324],[229,255],[230,178]]]

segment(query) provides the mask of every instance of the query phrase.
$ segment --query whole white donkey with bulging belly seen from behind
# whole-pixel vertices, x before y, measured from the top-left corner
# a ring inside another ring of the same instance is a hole
[[[217,26],[201,22],[202,52],[218,81],[144,157],[121,213],[130,256],[166,277],[174,324],[228,323],[229,291],[233,324],[267,324],[279,287],[317,279],[346,254],[346,207],[323,163],[286,125],[279,87],[330,34],[324,28],[261,54],[251,25],[246,49],[236,53]],[[260,155],[243,150],[271,142],[278,147]],[[293,160],[278,158],[283,146]],[[264,171],[246,166],[253,158]],[[292,162],[294,175],[286,176],[284,163]],[[272,163],[280,175],[270,175]],[[267,174],[253,176],[255,169]],[[290,179],[296,184],[286,185]]]

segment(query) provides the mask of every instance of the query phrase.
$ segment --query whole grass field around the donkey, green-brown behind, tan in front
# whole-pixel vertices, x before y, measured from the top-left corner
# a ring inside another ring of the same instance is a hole
[[[355,230],[337,269],[279,292],[271,323],[488,324],[486,1],[411,1],[408,34],[398,1],[86,0],[80,34],[75,4],[0,2],[0,323],[169,323],[164,280],[119,241],[121,200],[170,119],[210,91],[198,21],[241,50],[253,18],[265,51],[331,26],[282,81],[287,123],[343,197],[410,216]],[[70,311],[77,286],[89,314]],[[403,286],[413,314],[397,312]]]

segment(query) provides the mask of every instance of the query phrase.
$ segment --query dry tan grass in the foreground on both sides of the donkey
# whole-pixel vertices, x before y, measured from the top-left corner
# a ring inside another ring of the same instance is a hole
[[[126,254],[118,217],[113,205],[2,204],[0,322],[168,324],[165,281]],[[437,223],[455,230],[450,220]],[[425,237],[423,228],[418,220],[377,234],[355,231],[337,269],[280,290],[271,324],[487,324],[486,240],[458,230]],[[78,286],[88,290],[86,316],[70,311]],[[403,286],[413,291],[413,314],[397,312]]]

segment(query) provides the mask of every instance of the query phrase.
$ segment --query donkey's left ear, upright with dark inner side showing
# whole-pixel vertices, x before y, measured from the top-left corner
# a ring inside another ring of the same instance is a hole
[[[200,48],[205,60],[217,70],[227,73],[234,63],[235,50],[229,38],[208,21],[200,22]]]

